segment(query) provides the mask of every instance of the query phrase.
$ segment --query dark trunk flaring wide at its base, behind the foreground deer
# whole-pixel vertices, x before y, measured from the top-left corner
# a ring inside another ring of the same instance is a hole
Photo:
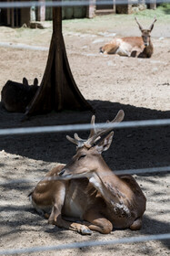
[[[70,70],[62,35],[62,7],[53,8],[53,35],[45,74],[25,116],[55,110],[93,111],[78,90]]]

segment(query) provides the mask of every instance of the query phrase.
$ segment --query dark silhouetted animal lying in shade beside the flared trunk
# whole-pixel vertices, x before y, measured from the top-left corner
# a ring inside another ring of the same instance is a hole
[[[25,108],[33,100],[38,89],[38,80],[28,85],[24,78],[23,83],[8,80],[1,91],[1,102],[8,112],[25,112]]]

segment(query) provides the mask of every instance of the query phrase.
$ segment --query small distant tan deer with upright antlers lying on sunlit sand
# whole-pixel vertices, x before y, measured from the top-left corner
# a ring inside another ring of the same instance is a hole
[[[144,29],[139,24],[136,17],[135,20],[142,32],[141,37],[115,38],[111,42],[105,44],[104,47],[100,48],[100,52],[127,57],[151,58],[154,52],[154,46],[151,42],[151,31],[153,30],[156,18],[149,29]]]

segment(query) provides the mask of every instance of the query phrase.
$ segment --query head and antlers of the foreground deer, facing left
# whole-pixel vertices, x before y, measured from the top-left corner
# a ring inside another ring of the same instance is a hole
[[[112,122],[107,123],[120,123],[124,119],[124,112],[119,111]],[[98,165],[102,162],[101,156],[103,151],[106,151],[113,140],[114,132],[109,133],[104,139],[101,139],[105,133],[113,130],[113,127],[104,127],[102,129],[95,129],[95,116],[92,116],[90,135],[87,140],[81,139],[76,133],[75,138],[66,136],[66,138],[77,145],[76,154],[72,160],[65,165],[62,171],[58,174],[61,179],[79,178],[82,176],[88,177],[91,172],[95,172]],[[106,164],[105,164],[106,165]]]

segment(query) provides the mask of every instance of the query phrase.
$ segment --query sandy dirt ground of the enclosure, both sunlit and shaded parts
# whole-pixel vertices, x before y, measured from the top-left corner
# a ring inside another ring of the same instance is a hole
[[[145,18],[150,25],[152,19]],[[48,48],[51,23],[45,29],[0,27],[0,42]],[[65,47],[79,90],[95,109],[96,122],[125,111],[125,121],[170,118],[170,27],[157,20],[152,33],[155,52],[151,59],[131,59],[99,54],[98,49],[115,36],[139,36],[131,16],[102,16],[93,20],[63,22]],[[115,35],[116,34],[116,35]],[[48,51],[0,47],[0,90],[7,80],[41,82]],[[91,112],[60,112],[34,116],[21,122],[22,113],[0,108],[0,128],[65,123],[89,123]],[[74,132],[73,132],[74,133]],[[69,133],[72,135],[73,133]],[[67,163],[75,146],[65,139],[67,133],[42,133],[0,137],[0,250],[57,245],[84,240],[162,234],[170,231],[169,187],[166,172],[135,175],[147,198],[143,228],[139,231],[113,230],[110,235],[93,232],[82,236],[74,231],[47,224],[29,203],[27,195],[38,180],[57,163]],[[86,137],[87,132],[79,132]],[[170,165],[170,129],[168,126],[115,130],[105,162],[113,170]],[[5,184],[15,179],[30,183]],[[34,255],[161,255],[169,253],[169,241],[37,252]],[[32,255],[32,254],[31,254]]]

